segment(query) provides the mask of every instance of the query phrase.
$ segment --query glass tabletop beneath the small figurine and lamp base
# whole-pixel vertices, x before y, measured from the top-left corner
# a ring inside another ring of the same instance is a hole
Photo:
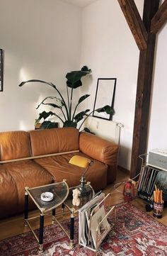
[[[95,194],[93,188],[91,187],[90,184],[87,184],[86,186],[90,187],[90,189],[91,189],[90,194],[88,194],[86,196],[79,197],[79,199],[81,200],[81,203],[79,204],[79,206],[74,206],[72,204],[72,199],[73,199],[72,191],[74,189],[79,189],[79,186],[69,188],[69,194],[67,196],[67,199],[64,201],[64,205],[67,206],[67,208],[69,208],[69,211],[71,211],[71,209],[74,209],[74,213],[76,213],[77,211],[79,211],[79,209],[82,206],[84,206],[86,203],[88,203],[88,201],[90,201],[93,198],[93,196]]]

